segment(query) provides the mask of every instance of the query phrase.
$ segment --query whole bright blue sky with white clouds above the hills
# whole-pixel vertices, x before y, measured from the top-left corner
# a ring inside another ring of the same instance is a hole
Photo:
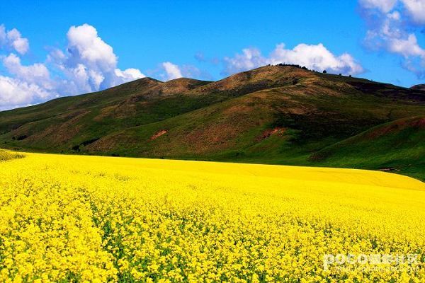
[[[96,91],[140,76],[217,80],[249,67],[306,57],[300,64],[313,69],[412,86],[425,82],[421,8],[425,12],[425,1],[3,0],[0,108]],[[71,27],[77,28],[73,38]],[[13,29],[28,40],[21,52],[13,46],[16,35],[7,37]],[[95,52],[105,52],[103,57],[82,58],[91,48],[81,45],[86,34],[98,43]],[[317,60],[323,62],[312,63]],[[78,81],[77,68],[88,74],[87,81]],[[38,71],[36,78],[24,77]],[[15,97],[19,91],[26,95]]]

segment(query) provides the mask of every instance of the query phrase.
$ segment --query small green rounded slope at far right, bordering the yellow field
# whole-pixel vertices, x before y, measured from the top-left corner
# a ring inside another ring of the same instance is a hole
[[[425,180],[425,117],[373,127],[312,154],[320,166],[395,171]]]

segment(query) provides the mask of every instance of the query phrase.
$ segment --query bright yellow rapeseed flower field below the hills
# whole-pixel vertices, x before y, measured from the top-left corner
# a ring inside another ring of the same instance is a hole
[[[0,162],[0,282],[425,282],[425,185],[412,178],[25,155]]]

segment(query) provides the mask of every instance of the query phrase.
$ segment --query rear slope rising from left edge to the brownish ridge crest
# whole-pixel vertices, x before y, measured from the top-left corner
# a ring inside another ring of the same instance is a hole
[[[213,83],[191,79],[162,83],[145,78],[100,93],[1,112],[0,142],[8,148],[69,151],[112,132],[292,83],[290,73],[280,76],[278,69],[254,70]]]

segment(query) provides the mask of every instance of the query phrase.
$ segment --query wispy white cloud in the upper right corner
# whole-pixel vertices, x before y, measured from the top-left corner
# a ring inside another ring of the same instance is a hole
[[[425,77],[425,49],[416,33],[425,25],[425,0],[360,0],[368,24],[365,46],[386,50],[402,58],[402,67]]]

